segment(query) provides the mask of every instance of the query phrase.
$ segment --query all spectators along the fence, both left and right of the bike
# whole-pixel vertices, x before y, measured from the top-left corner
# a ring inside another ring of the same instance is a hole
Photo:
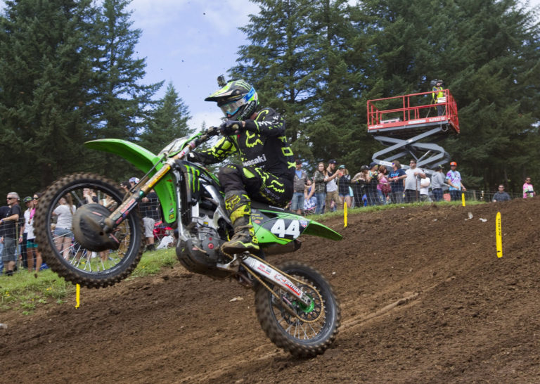
[[[319,162],[315,172],[308,175],[302,169],[302,161],[296,161],[294,194],[290,202],[290,210],[300,215],[321,215],[324,212],[342,210],[347,207],[365,207],[370,205],[401,204],[413,202],[431,202],[441,200],[461,200],[461,193],[467,191],[463,185],[457,163],[451,162],[450,169],[444,173],[441,165],[435,172],[425,172],[416,166],[416,159],[409,161],[409,168],[403,169],[399,161],[392,162],[391,167],[378,165],[362,165],[360,172],[352,176],[345,165],[338,165],[336,160],[328,163]],[[432,176],[430,177],[430,174]],[[123,181],[120,186],[127,193],[139,179],[132,177]],[[510,195],[500,184],[496,193],[488,194],[489,201],[494,203],[508,201]],[[86,203],[107,204],[98,201],[96,193],[89,188],[83,191]],[[536,196],[531,178],[525,178],[522,186],[522,198]],[[6,205],[0,207],[0,274],[12,276],[16,269],[28,269],[37,273],[46,267],[38,250],[34,236],[34,214],[41,193],[23,198],[17,192],[6,195]],[[480,199],[484,199],[483,192]],[[20,204],[24,207],[21,207]],[[58,206],[53,210],[53,233],[55,245],[63,257],[69,253],[75,242],[72,233],[72,215],[76,212],[69,195],[60,198]],[[143,198],[139,211],[143,217],[146,250],[155,249],[155,241],[169,235],[170,228],[163,226],[161,207],[158,196],[151,191]]]

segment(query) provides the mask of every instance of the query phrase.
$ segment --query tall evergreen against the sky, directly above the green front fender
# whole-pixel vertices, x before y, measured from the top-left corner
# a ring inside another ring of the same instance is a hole
[[[135,46],[141,30],[133,29],[131,0],[103,0],[98,9],[95,33],[89,44],[94,49],[94,130],[92,138],[118,138],[136,141],[148,117],[152,96],[162,86],[141,84],[145,75],[145,59],[135,58]],[[115,155],[91,154],[91,167],[96,172],[123,179],[134,168]],[[114,162],[115,167],[110,167]]]

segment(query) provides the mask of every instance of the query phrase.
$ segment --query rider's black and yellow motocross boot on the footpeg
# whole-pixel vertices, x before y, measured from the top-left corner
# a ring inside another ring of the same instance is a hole
[[[257,252],[259,241],[251,223],[251,200],[244,191],[229,191],[225,194],[225,208],[233,223],[234,235],[221,245],[229,255],[242,252]]]

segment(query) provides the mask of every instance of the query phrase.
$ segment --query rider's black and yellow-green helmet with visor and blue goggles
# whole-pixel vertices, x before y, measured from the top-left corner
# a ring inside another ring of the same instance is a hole
[[[259,105],[255,88],[244,80],[231,80],[205,101],[217,101],[217,106],[227,117],[239,121],[248,119]]]

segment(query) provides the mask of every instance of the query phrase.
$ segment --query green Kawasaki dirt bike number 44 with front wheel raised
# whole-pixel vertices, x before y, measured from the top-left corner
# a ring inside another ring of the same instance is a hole
[[[74,284],[100,288],[117,283],[141,259],[143,232],[136,208],[154,188],[163,222],[178,230],[176,255],[188,271],[217,279],[233,277],[254,289],[257,318],[272,342],[298,357],[321,354],[340,326],[333,288],[307,264],[272,265],[266,255],[297,250],[297,238],[303,233],[335,241],[342,236],[289,210],[252,201],[260,251],[221,252],[221,245],[233,234],[224,193],[209,169],[188,161],[188,153],[218,134],[219,129],[212,127],[191,138],[175,139],[158,155],[120,139],[85,143],[120,155],[145,176],[128,193],[96,174],[58,179],[41,196],[35,214],[39,250],[53,271]],[[76,207],[75,213],[70,205]],[[61,227],[65,212],[72,214],[71,229]]]

